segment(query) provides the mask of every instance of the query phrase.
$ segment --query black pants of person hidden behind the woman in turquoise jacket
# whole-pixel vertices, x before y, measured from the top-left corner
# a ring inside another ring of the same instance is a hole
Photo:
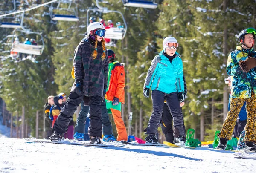
[[[180,107],[180,111],[182,113],[181,107]],[[169,110],[168,105],[166,103],[164,103],[163,115],[162,115],[162,119],[160,121],[160,125],[162,127],[163,134],[166,137],[166,141],[171,142],[173,144],[174,136],[173,136],[172,121],[173,121],[173,118],[172,118],[171,111]],[[184,128],[184,132],[186,132],[186,128],[184,125],[184,118],[183,118],[183,128]]]

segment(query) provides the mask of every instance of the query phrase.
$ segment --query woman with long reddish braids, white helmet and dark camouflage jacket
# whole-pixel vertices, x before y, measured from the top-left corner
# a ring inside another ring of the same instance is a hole
[[[72,77],[75,79],[67,103],[53,126],[52,141],[62,139],[70,118],[81,101],[90,107],[90,144],[100,144],[102,137],[101,104],[108,85],[108,53],[105,48],[105,28],[93,22],[87,27],[89,37],[81,40],[74,53]],[[106,58],[107,57],[107,58]],[[87,117],[87,115],[86,115]],[[84,117],[84,119],[86,119]],[[83,124],[84,125],[84,124]],[[84,133],[84,129],[81,132]]]

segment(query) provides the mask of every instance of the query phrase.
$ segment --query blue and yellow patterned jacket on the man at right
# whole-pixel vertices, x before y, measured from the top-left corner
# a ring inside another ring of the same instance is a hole
[[[239,66],[239,61],[248,56],[256,58],[253,48],[243,49],[242,46],[237,46],[227,58],[227,75],[232,77],[231,98],[250,98],[252,90],[256,93],[256,68],[245,73]]]

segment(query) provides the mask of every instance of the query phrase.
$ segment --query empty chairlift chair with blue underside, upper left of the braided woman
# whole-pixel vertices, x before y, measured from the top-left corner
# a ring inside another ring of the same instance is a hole
[[[67,8],[60,8],[61,3],[69,3],[69,5]],[[71,8],[72,3],[75,4],[75,6],[76,6],[75,8]],[[50,6],[49,9],[50,9],[50,17],[52,20],[70,21],[70,22],[79,21],[77,5],[76,5],[76,2],[73,0],[58,0],[57,7],[53,7],[53,3],[52,3],[52,5]],[[53,14],[53,9],[71,11],[75,15]]]

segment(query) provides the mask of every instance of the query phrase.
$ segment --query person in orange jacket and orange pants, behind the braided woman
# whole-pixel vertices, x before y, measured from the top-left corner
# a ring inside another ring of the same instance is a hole
[[[127,131],[121,117],[121,105],[125,104],[125,69],[112,50],[108,50],[108,88],[106,89],[106,107],[111,110],[117,130],[117,141],[127,141]]]

